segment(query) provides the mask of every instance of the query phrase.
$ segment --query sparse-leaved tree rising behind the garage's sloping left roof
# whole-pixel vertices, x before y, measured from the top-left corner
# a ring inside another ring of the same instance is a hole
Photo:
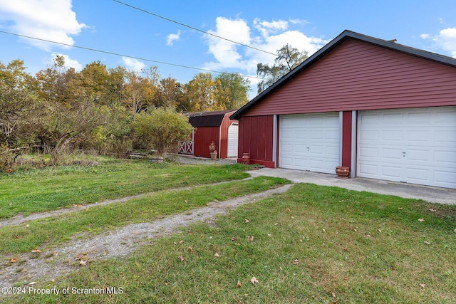
[[[277,57],[274,65],[263,63],[257,64],[257,75],[264,78],[258,83],[258,93],[261,93],[270,85],[279,80],[290,70],[296,68],[307,58],[306,51],[299,51],[297,48],[290,46],[288,43],[277,50]]]

